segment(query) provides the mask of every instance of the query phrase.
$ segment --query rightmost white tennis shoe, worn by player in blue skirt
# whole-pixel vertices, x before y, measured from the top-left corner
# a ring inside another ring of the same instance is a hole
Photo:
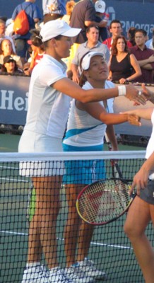
[[[80,270],[85,272],[85,275],[87,275],[87,277],[92,277],[97,280],[106,279],[105,272],[103,272],[102,270],[97,270],[97,267],[92,260],[85,258],[85,260],[78,262],[78,265]]]

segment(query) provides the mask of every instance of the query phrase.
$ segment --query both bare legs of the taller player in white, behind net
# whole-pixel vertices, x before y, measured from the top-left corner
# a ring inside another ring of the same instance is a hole
[[[40,261],[43,251],[50,269],[58,266],[56,223],[61,177],[33,178],[33,183],[36,190],[36,207],[30,223],[28,262]]]

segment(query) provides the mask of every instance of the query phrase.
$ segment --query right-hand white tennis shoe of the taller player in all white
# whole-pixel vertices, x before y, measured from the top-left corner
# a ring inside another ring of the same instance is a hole
[[[42,283],[42,282],[41,282]],[[60,267],[52,268],[49,270],[49,277],[47,283],[73,283],[71,279],[69,279],[64,270]]]

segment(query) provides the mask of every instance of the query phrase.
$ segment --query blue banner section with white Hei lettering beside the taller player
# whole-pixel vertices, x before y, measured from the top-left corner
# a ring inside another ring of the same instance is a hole
[[[25,125],[29,83],[26,76],[0,75],[0,124]]]

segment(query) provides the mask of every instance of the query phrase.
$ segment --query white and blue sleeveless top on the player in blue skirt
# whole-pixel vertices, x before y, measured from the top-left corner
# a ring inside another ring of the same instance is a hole
[[[113,88],[114,83],[106,81],[105,88]],[[93,86],[87,81],[84,89],[91,89]],[[113,112],[113,98],[107,100],[107,112]],[[100,104],[104,107],[102,101]],[[97,146],[104,143],[104,135],[107,125],[95,119],[84,110],[76,108],[76,100],[71,101],[69,120],[67,122],[64,144],[71,146]]]

